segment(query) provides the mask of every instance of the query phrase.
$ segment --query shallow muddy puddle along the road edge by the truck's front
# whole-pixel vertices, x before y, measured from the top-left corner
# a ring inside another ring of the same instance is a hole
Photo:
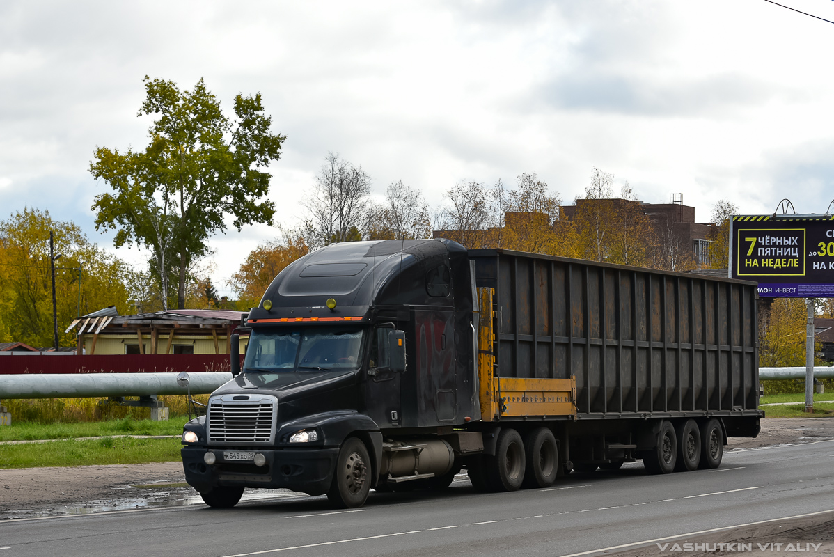
[[[166,482],[170,483],[170,482]],[[203,499],[190,487],[174,489],[138,489],[133,486],[123,488],[138,491],[141,496],[123,497],[117,499],[97,499],[83,503],[63,506],[38,507],[34,509],[18,509],[0,512],[0,520],[4,519],[34,519],[46,516],[68,516],[73,514],[103,513],[113,510],[149,509],[153,507],[181,507],[191,504],[204,505]],[[137,494],[138,495],[138,494]],[[298,499],[309,497],[306,494],[295,493],[286,489],[246,489],[241,503],[260,499]]]

